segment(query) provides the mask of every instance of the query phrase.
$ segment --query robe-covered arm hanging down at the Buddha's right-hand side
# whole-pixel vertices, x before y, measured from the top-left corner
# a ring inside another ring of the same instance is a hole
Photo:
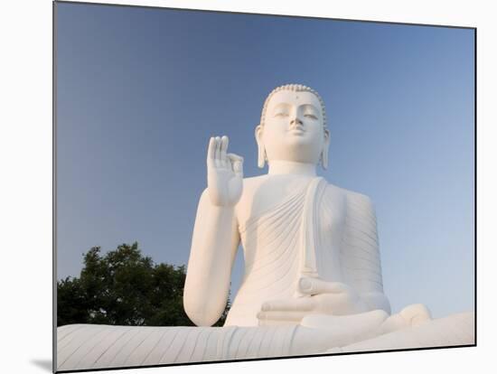
[[[343,238],[342,266],[348,283],[359,293],[368,309],[390,313],[383,293],[376,214],[370,198],[350,192]]]

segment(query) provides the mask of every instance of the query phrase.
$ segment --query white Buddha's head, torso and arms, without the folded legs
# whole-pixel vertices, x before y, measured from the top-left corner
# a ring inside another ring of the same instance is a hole
[[[302,85],[274,89],[256,139],[258,165],[267,162],[268,173],[243,179],[243,159],[228,153],[228,137],[211,138],[184,291],[188,316],[202,326],[220,318],[240,242],[245,276],[226,325],[389,313],[370,199],[316,176],[317,164],[328,164],[323,100]]]

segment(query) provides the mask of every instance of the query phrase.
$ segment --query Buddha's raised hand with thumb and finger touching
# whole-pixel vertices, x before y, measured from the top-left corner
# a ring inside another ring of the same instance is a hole
[[[207,151],[207,189],[211,203],[232,207],[243,189],[243,158],[227,154],[228,136],[211,137]]]

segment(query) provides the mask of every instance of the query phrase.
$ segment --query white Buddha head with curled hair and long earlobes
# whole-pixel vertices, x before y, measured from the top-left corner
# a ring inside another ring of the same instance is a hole
[[[266,161],[292,161],[328,166],[330,132],[323,99],[309,87],[287,84],[267,96],[256,127],[258,167]]]

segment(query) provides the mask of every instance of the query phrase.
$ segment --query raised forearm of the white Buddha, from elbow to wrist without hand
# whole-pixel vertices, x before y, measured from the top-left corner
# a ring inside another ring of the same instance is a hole
[[[231,267],[239,246],[233,207],[215,206],[201,196],[184,285],[184,310],[198,326],[220,319],[230,291]]]

